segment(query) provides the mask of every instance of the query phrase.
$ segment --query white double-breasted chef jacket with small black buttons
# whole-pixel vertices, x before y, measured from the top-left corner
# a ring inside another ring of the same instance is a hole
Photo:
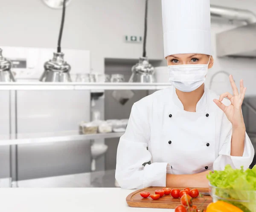
[[[166,186],[166,174],[194,174],[206,170],[248,168],[254,149],[244,139],[244,154],[231,156],[232,124],[212,101],[219,99],[205,88],[188,112],[173,86],[134,103],[116,157],[116,181],[125,189]],[[230,105],[224,99],[225,105]]]

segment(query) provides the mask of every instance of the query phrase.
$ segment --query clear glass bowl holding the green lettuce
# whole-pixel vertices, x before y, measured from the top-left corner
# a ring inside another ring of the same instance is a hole
[[[240,208],[243,212],[256,212],[256,191],[219,188],[209,184],[209,193],[212,201],[224,201]]]

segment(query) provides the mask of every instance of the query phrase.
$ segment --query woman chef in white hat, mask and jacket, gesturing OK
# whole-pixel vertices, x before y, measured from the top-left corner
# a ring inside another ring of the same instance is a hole
[[[233,77],[233,94],[204,86],[210,56],[209,0],[162,0],[164,53],[172,86],[132,109],[117,149],[122,188],[208,187],[210,170],[249,167],[254,149],[241,105],[246,88]],[[227,98],[227,99],[226,99]]]

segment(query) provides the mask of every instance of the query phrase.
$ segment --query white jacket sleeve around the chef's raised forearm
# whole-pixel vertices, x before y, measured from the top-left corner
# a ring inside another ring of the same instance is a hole
[[[227,164],[230,164],[233,169],[240,169],[241,166],[247,169],[253,161],[254,148],[247,133],[244,138],[244,154],[243,156],[231,156],[231,139],[232,139],[232,124],[223,116],[221,124],[220,141],[218,147],[218,158],[213,163],[214,170],[224,170]]]

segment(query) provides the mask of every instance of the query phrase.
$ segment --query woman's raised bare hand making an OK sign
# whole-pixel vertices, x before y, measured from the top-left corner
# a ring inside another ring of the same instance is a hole
[[[244,95],[246,88],[244,88],[244,82],[241,79],[240,80],[240,93],[238,92],[238,89],[236,87],[236,84],[233,80],[233,76],[230,75],[230,83],[233,90],[233,95],[226,92],[221,94],[219,99],[214,99],[213,102],[223,110],[223,112],[226,114],[227,119],[232,123],[233,129],[234,128],[240,128],[244,127],[244,118],[241,110],[241,106],[244,100]],[[227,99],[230,100],[231,104],[229,106],[224,105],[221,101],[227,97]]]

